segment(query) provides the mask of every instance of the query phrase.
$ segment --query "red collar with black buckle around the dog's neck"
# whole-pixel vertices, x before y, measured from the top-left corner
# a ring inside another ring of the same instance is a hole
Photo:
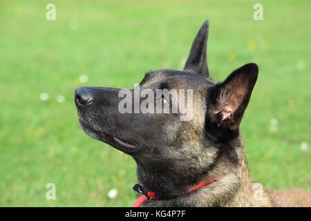
[[[194,191],[197,191],[198,189],[202,188],[203,186],[207,186],[208,184],[211,184],[212,182],[217,181],[223,175],[225,175],[225,172],[221,172],[220,175],[218,175],[214,178],[211,178],[211,180],[200,182],[200,183],[196,184],[196,186],[192,187],[191,189],[189,189],[187,191],[184,191],[183,193],[188,194],[188,193],[192,193]],[[140,194],[140,197],[134,202],[133,207],[140,207],[144,202],[149,201],[149,200],[154,200],[156,198],[155,192],[147,191],[140,184],[135,184],[135,186],[133,186],[133,190]]]

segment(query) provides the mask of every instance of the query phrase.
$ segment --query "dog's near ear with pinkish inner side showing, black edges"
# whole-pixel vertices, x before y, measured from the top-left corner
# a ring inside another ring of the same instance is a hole
[[[238,128],[258,77],[256,64],[245,64],[209,89],[211,122],[234,131]]]

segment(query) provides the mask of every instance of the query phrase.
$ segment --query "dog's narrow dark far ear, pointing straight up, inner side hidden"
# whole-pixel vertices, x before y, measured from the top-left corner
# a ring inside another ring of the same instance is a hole
[[[207,68],[207,37],[209,34],[209,21],[206,20],[196,38],[192,43],[189,57],[186,61],[184,70],[203,77],[209,77],[209,70]]]

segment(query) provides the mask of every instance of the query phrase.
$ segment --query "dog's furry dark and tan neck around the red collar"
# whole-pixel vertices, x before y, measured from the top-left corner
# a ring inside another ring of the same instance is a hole
[[[230,148],[234,148],[236,162],[228,160],[223,155],[223,158],[220,157],[217,164],[208,172],[205,171],[196,177],[182,173],[173,175],[170,172],[174,171],[170,171],[169,168],[166,169],[164,177],[162,170],[165,168],[161,168],[161,165],[154,169],[144,168],[145,165],[138,164],[138,175],[141,175],[140,182],[147,189],[150,188],[149,191],[155,191],[162,195],[162,199],[151,200],[144,206],[254,206],[253,184],[249,177],[241,137],[239,136],[234,143]],[[225,172],[225,175],[216,182],[192,193],[183,193],[191,185],[210,180],[222,172]]]

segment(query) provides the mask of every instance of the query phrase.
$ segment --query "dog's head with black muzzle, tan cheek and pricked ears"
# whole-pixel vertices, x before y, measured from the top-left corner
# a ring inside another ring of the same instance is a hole
[[[153,70],[131,90],[77,88],[75,104],[84,131],[132,155],[139,168],[156,170],[155,174],[162,167],[179,175],[206,171],[219,157],[221,146],[238,137],[258,75],[256,64],[246,64],[225,81],[214,83],[207,68],[208,29],[205,21],[182,71]],[[158,90],[176,90],[178,96],[161,95]],[[190,106],[180,111],[181,103]],[[178,108],[173,113],[174,105]]]

